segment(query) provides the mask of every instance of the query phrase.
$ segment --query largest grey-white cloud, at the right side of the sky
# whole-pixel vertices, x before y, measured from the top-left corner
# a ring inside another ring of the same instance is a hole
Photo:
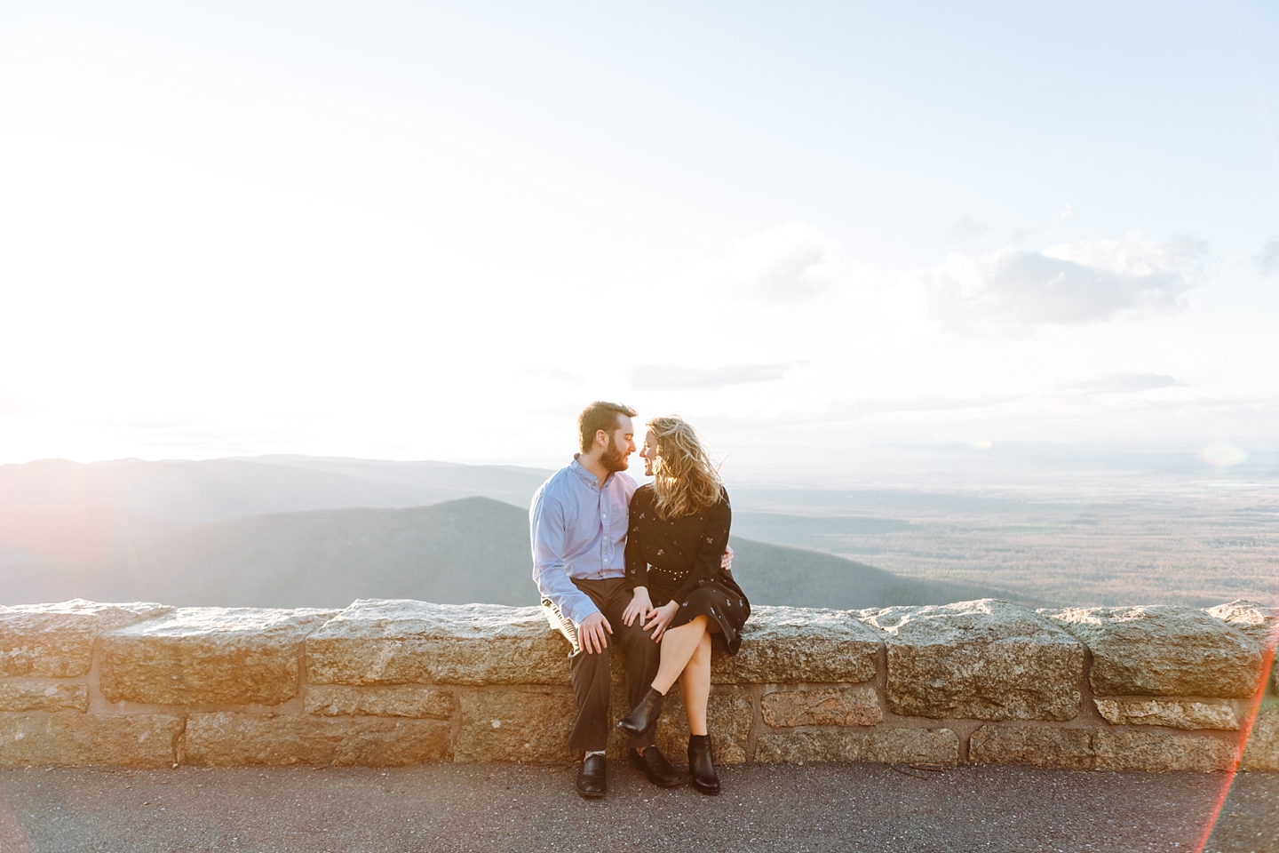
[[[1027,252],[949,254],[921,274],[929,316],[966,338],[1026,335],[1040,326],[1177,313],[1206,278],[1207,246],[1132,231],[1120,240],[1063,243]]]

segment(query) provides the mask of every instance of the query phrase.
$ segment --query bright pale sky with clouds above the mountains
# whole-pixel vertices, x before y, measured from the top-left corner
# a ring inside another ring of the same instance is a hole
[[[0,5],[0,463],[1279,449],[1279,6]],[[1232,455],[1233,454],[1233,455]]]

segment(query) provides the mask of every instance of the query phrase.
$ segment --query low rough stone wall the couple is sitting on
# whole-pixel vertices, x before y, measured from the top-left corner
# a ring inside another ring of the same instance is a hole
[[[723,763],[1279,770],[1279,706],[1262,688],[1276,618],[1238,601],[761,606],[741,653],[716,651],[715,751]],[[538,607],[0,607],[0,765],[567,762],[567,653]],[[679,761],[675,693],[659,743]]]

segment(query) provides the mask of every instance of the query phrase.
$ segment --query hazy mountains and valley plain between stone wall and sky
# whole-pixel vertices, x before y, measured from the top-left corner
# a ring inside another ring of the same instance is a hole
[[[737,574],[760,604],[842,607],[1273,599],[1274,477],[1030,489],[1018,471],[1003,489],[729,480]],[[527,506],[549,474],[312,457],[0,466],[0,604],[532,604]]]

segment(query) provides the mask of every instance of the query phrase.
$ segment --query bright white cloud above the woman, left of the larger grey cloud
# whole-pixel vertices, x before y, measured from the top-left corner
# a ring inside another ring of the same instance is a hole
[[[801,302],[834,284],[838,257],[835,243],[816,228],[792,223],[751,234],[726,257],[692,274],[738,295],[764,302]]]

